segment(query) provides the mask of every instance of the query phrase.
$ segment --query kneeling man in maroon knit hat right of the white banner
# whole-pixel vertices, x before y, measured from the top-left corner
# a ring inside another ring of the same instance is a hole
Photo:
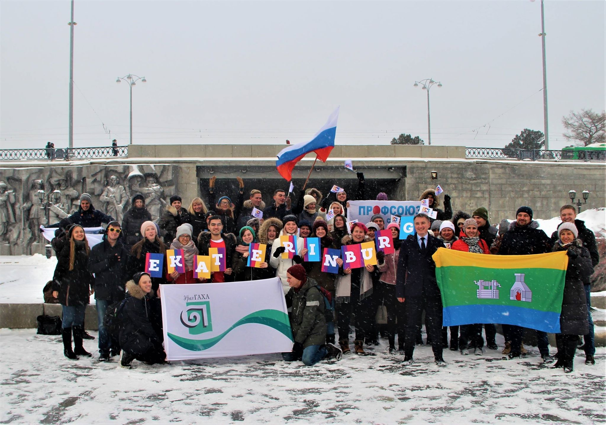
[[[326,341],[326,319],[324,317],[324,296],[315,280],[307,278],[301,264],[295,264],[286,271],[290,290],[285,295],[286,305],[292,306],[290,326],[293,329],[295,345],[291,353],[282,353],[285,361],[302,360],[306,366],[318,363],[324,358],[341,360],[341,349]]]

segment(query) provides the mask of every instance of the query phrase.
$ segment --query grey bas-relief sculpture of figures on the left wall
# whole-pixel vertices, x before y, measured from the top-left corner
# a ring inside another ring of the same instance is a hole
[[[156,220],[167,204],[165,193],[172,195],[175,190],[173,171],[170,165],[0,169],[1,254],[43,253],[47,241],[39,232],[40,225],[58,223],[78,211],[79,198],[84,192],[90,193],[96,209],[118,221],[122,221],[133,196],[139,193]],[[43,201],[39,190],[44,190]],[[54,190],[61,191],[56,203],[49,196]],[[48,218],[44,209],[47,202]]]

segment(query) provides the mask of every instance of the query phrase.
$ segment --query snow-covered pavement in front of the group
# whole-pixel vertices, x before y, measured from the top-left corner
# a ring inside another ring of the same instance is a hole
[[[95,333],[96,335],[96,333]],[[502,347],[502,337],[498,335]],[[576,356],[565,374],[539,364],[536,349],[519,361],[501,352],[445,351],[438,368],[430,347],[413,366],[401,356],[345,356],[305,367],[279,355],[147,366],[68,361],[61,336],[0,330],[0,423],[580,423],[606,421],[606,349],[596,365]],[[497,360],[498,359],[498,360]]]

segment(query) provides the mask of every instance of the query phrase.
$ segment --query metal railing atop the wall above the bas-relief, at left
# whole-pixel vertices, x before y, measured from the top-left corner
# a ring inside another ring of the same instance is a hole
[[[126,158],[128,146],[113,147],[75,147],[72,149],[0,149],[0,161],[19,161],[21,159],[88,159],[88,158]]]

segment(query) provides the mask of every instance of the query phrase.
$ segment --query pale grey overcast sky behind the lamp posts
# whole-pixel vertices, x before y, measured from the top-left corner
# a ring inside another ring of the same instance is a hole
[[[604,1],[545,1],[550,147],[604,110]],[[279,143],[341,106],[337,144],[502,147],[543,130],[541,2],[75,2],[76,147]],[[67,146],[69,1],[0,1],[0,146]],[[105,129],[110,131],[108,134]]]

